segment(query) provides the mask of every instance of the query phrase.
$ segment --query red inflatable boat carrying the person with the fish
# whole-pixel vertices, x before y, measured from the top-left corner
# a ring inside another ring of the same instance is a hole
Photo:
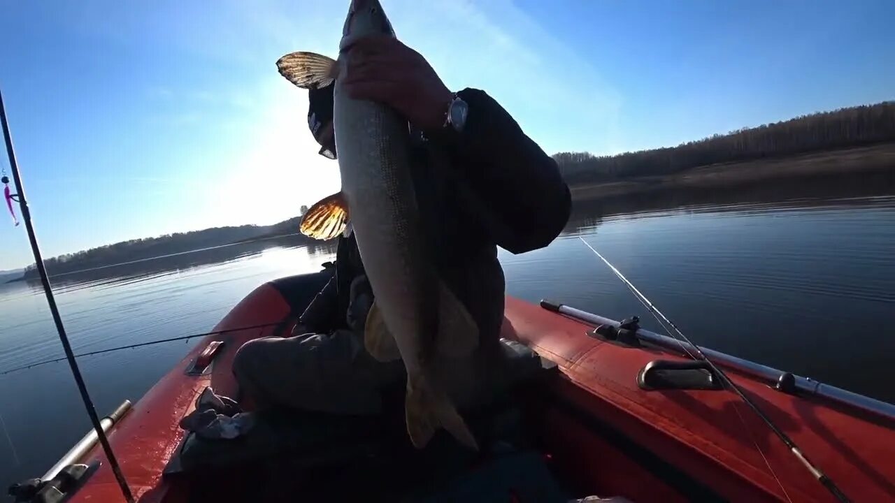
[[[186,354],[131,410],[105,422],[136,500],[343,500],[337,491],[331,498],[306,493],[313,477],[294,466],[277,468],[258,460],[192,471],[177,466],[186,441],[178,422],[192,411],[198,394],[210,386],[218,394],[238,396],[230,368],[235,351],[256,337],[288,334],[296,314],[326,279],[324,272],[260,286],[218,323],[215,330],[221,333]],[[680,345],[669,344],[667,337],[633,324],[619,328],[564,306],[513,298],[507,298],[503,336],[556,364],[514,393],[524,402],[520,410],[531,448],[568,494],[636,502],[835,500],[765,422],[737,395],[720,388],[710,369],[679,354]],[[895,500],[891,405],[705,352],[848,499]],[[72,503],[123,501],[102,450],[91,443],[86,439],[86,448],[62,463],[90,468],[67,487],[57,484],[60,492]],[[376,452],[363,457],[375,459]],[[476,464],[482,461],[470,469]],[[362,469],[347,473],[358,472]],[[339,489],[361,483],[340,480]],[[369,491],[364,501],[379,500]],[[546,499],[510,491],[504,500]]]

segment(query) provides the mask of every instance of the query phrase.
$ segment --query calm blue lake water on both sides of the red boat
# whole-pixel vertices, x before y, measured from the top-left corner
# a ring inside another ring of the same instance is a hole
[[[582,236],[697,344],[895,402],[895,196],[766,199],[584,205],[549,247],[500,252],[507,293],[659,331]],[[55,287],[81,353],[207,331],[255,286],[333,258],[271,240]],[[0,286],[0,372],[62,356],[46,306],[38,286]],[[139,399],[199,340],[81,358],[98,413]],[[0,375],[0,414],[3,486],[39,476],[90,428],[64,362]]]

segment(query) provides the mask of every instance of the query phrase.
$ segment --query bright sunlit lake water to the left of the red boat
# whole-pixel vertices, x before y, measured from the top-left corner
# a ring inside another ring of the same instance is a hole
[[[301,244],[238,243],[54,277],[56,301],[76,354],[205,332],[253,288],[335,258],[334,243]],[[199,340],[79,358],[98,412],[140,399]],[[62,355],[39,285],[0,287],[0,373]],[[64,362],[0,375],[0,413],[13,440],[0,433],[4,487],[46,471],[90,428]]]

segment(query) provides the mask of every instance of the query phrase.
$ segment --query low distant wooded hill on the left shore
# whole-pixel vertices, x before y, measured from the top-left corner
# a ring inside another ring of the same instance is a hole
[[[272,235],[294,234],[298,232],[301,217],[290,218],[272,226],[231,226],[214,227],[188,233],[165,234],[158,237],[132,239],[121,243],[107,244],[76,253],[66,253],[44,260],[50,276],[84,269],[92,269],[133,260],[145,260],[173,253],[192,252],[223,244],[249,241]],[[304,236],[301,236],[302,238]],[[311,238],[308,239],[309,243]],[[37,277],[33,265],[25,269],[24,277]]]

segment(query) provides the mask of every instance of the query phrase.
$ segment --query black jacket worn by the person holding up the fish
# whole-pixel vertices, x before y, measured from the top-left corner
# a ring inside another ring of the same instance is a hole
[[[469,105],[464,131],[422,132],[417,142],[416,199],[440,276],[478,322],[482,341],[496,342],[505,286],[497,247],[547,246],[566,225],[571,198],[556,162],[503,107],[482,90],[458,95]],[[339,240],[336,276],[302,316],[312,331],[348,326],[351,285],[363,266],[354,235]]]

